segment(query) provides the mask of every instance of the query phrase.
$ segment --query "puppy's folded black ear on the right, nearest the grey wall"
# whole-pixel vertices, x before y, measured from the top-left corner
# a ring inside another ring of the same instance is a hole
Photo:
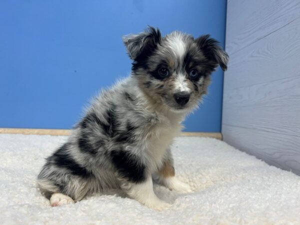
[[[208,60],[219,64],[223,71],[227,69],[229,56],[221,48],[217,40],[211,38],[209,34],[206,34],[198,37],[195,41]]]

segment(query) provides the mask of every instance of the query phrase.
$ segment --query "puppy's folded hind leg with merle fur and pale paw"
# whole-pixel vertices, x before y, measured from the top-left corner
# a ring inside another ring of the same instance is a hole
[[[46,159],[37,178],[40,191],[52,206],[73,203],[97,190],[95,176],[73,158],[70,143]]]

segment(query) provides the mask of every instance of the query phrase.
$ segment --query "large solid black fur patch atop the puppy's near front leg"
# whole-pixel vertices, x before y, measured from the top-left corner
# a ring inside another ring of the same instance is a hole
[[[136,155],[124,150],[112,150],[110,156],[119,175],[123,178],[136,183],[145,180],[145,166]]]

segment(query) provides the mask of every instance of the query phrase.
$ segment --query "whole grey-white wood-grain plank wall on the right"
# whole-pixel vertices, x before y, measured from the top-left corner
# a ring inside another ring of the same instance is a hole
[[[228,0],[222,135],[300,175],[300,0]]]

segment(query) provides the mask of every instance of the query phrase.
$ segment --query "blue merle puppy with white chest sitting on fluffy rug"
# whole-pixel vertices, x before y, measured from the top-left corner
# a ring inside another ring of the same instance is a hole
[[[209,35],[194,39],[159,29],[123,37],[131,75],[95,97],[67,141],[38,175],[52,206],[120,188],[150,208],[169,206],[153,192],[152,177],[170,190],[189,192],[175,177],[170,145],[185,115],[207,91],[210,74],[227,68],[228,55]]]

